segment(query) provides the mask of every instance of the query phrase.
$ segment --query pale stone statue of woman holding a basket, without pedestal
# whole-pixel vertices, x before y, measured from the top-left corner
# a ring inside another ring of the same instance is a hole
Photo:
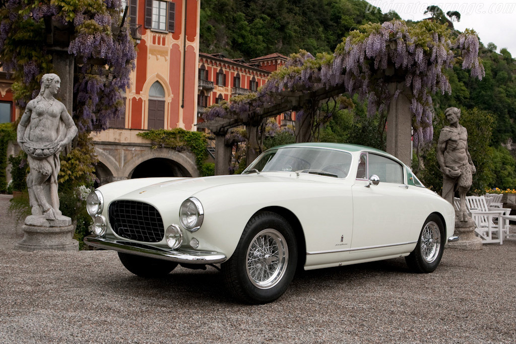
[[[54,98],[61,80],[56,74],[41,78],[41,92],[31,100],[18,125],[18,143],[27,153],[27,175],[32,215],[55,220],[61,216],[57,195],[59,153],[77,135],[77,127],[64,104]]]

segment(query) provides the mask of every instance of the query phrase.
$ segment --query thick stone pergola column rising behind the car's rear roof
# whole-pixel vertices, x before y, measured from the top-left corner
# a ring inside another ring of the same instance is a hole
[[[394,155],[410,167],[411,162],[411,137],[412,137],[412,113],[410,101],[404,94],[405,83],[389,84],[389,92],[394,94],[400,90],[397,99],[391,99],[387,112],[387,153]]]

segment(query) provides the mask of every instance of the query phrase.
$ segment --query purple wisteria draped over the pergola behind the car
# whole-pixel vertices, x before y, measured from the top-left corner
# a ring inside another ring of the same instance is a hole
[[[451,93],[445,71],[461,62],[473,77],[481,79],[485,75],[478,46],[475,31],[465,30],[454,38],[446,25],[436,22],[408,26],[394,20],[363,25],[350,32],[332,55],[314,57],[304,51],[291,55],[284,68],[272,73],[253,97],[232,99],[229,106],[214,106],[204,118],[240,118],[242,113],[249,116],[264,104],[273,104],[273,93],[320,88],[343,88],[349,95],[358,94],[359,99],[367,100],[370,115],[378,111],[385,118],[391,99],[401,92],[396,88],[391,94],[388,86],[404,83],[404,93],[411,101],[414,141],[424,144],[433,136],[431,94]]]

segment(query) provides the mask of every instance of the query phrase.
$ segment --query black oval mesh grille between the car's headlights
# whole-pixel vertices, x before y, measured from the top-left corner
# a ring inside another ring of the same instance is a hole
[[[152,205],[135,201],[115,201],[109,206],[113,231],[127,239],[143,242],[163,240],[165,228],[159,211]]]

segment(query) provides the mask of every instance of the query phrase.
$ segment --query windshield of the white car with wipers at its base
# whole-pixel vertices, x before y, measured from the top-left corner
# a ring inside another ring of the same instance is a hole
[[[307,147],[286,147],[266,151],[242,172],[299,172],[345,178],[351,166],[347,152]]]

